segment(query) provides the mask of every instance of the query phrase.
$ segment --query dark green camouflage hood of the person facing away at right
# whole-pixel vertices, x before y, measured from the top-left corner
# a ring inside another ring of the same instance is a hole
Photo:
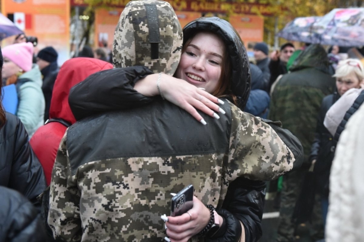
[[[325,49],[320,44],[311,44],[302,51],[289,70],[298,71],[306,68],[315,68],[329,73],[329,59]]]

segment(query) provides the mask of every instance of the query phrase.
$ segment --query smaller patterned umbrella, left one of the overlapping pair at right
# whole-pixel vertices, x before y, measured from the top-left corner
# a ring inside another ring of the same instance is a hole
[[[312,26],[320,19],[321,17],[317,16],[296,17],[286,24],[286,26],[278,32],[277,36],[287,40],[312,43]]]

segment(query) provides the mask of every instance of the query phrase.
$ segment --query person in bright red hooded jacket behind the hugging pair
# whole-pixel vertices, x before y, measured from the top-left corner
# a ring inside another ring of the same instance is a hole
[[[74,58],[64,62],[59,70],[52,93],[49,120],[37,129],[29,141],[43,167],[48,186],[59,143],[67,127],[76,122],[68,105],[71,87],[91,74],[108,69],[112,69],[112,65],[99,59]]]

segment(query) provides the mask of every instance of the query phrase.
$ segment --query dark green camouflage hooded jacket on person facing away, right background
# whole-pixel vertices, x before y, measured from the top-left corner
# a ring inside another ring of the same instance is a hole
[[[329,62],[324,48],[313,44],[302,51],[278,81],[270,99],[270,120],[279,120],[302,143],[304,164],[309,167],[309,155],[314,141],[321,102],[335,90],[335,78],[329,74]]]

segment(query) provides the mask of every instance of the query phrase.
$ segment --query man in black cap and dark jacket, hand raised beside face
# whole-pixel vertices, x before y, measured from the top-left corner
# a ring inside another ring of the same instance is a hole
[[[276,81],[277,77],[288,72],[287,62],[295,50],[296,49],[294,48],[294,45],[287,42],[282,44],[280,51],[273,51],[270,54],[270,80],[268,85],[268,92],[270,92],[270,87],[272,86],[273,82]]]

